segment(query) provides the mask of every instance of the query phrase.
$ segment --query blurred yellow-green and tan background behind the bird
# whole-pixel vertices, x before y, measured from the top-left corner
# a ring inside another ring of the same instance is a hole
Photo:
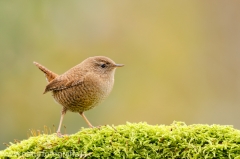
[[[0,149],[58,126],[37,61],[62,74],[89,56],[125,66],[93,125],[223,124],[240,129],[240,1],[0,1]],[[87,127],[68,112],[67,133]],[[64,131],[62,129],[62,131]]]

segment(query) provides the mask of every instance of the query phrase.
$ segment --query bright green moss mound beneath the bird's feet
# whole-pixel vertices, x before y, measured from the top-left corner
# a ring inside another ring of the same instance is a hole
[[[239,158],[240,131],[232,126],[147,123],[82,129],[59,138],[30,137],[0,158]]]

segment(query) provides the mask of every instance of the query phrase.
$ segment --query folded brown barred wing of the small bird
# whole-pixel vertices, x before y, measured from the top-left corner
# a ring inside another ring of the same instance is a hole
[[[77,76],[77,78],[69,78],[68,76],[58,76],[52,80],[45,88],[44,94],[49,91],[58,91],[67,89],[83,82],[84,76]]]

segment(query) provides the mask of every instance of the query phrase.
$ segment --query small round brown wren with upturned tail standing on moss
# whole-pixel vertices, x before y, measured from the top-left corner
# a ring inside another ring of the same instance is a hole
[[[93,127],[84,115],[84,111],[95,107],[109,95],[113,88],[116,67],[124,66],[116,64],[108,57],[95,56],[58,75],[37,62],[33,63],[45,73],[47,78],[48,85],[44,94],[51,91],[54,99],[62,105],[57,130],[59,136],[61,136],[63,117],[68,110],[78,112],[89,127]]]

